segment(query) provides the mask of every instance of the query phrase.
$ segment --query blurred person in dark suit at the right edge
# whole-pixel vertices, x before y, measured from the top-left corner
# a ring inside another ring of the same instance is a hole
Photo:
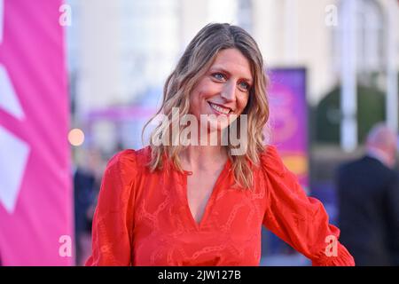
[[[356,265],[399,265],[397,140],[383,123],[366,140],[365,155],[339,167],[340,241]]]

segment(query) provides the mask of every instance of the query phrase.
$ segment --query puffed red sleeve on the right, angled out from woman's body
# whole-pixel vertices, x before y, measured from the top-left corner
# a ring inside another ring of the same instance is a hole
[[[340,230],[329,224],[323,204],[306,195],[276,147],[268,146],[261,160],[269,203],[263,225],[313,265],[354,265],[353,257],[338,241]]]

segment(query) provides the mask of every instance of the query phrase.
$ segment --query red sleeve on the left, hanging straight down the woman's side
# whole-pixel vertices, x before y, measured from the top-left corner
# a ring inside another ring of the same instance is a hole
[[[108,162],[93,218],[92,252],[86,265],[131,264],[136,176],[135,151],[125,150]]]

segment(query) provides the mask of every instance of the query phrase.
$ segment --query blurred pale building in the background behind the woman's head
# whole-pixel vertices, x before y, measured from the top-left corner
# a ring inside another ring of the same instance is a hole
[[[268,67],[306,67],[308,100],[315,106],[340,83],[348,62],[342,42],[351,1],[69,0],[75,117],[134,105],[161,90],[186,44],[210,21],[246,28]],[[398,18],[396,0],[356,0],[356,80],[374,80],[382,91],[392,86],[387,65],[397,74]],[[113,143],[104,136],[103,144]]]

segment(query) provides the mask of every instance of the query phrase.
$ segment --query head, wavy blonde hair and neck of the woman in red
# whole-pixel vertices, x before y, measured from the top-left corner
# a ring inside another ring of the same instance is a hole
[[[208,115],[207,123],[199,124],[200,129],[207,129],[202,135],[211,136],[209,132],[213,131],[228,132],[231,130],[228,126],[231,126],[233,119],[226,120],[225,115],[230,109],[227,116],[233,118],[235,116],[232,114],[236,114],[237,124],[242,124],[240,121],[244,116],[247,120],[244,126],[246,137],[242,139],[243,143],[247,143],[246,153],[233,154],[234,149],[240,145],[233,146],[231,143],[223,147],[208,144],[189,148],[181,145],[150,145],[150,169],[162,167],[163,154],[168,154],[178,170],[198,168],[195,164],[192,165],[194,160],[197,164],[204,164],[195,157],[188,157],[187,154],[213,157],[210,161],[205,161],[208,170],[212,172],[220,170],[228,158],[233,164],[233,177],[237,184],[245,188],[251,187],[253,170],[248,160],[254,164],[260,162],[259,154],[264,151],[262,130],[269,117],[267,78],[263,67],[258,45],[244,29],[228,24],[210,24],[202,28],[189,43],[165,83],[162,106],[157,114],[167,115],[170,124],[160,125],[154,130],[153,135],[161,132],[171,137],[168,135],[168,130],[174,131],[171,124],[176,119],[182,120],[186,114],[195,115],[199,122],[201,114],[216,115],[215,119]],[[173,107],[179,107],[178,117],[173,117]],[[162,128],[163,130],[160,130]],[[176,131],[181,132],[183,129],[184,126],[181,126]]]

